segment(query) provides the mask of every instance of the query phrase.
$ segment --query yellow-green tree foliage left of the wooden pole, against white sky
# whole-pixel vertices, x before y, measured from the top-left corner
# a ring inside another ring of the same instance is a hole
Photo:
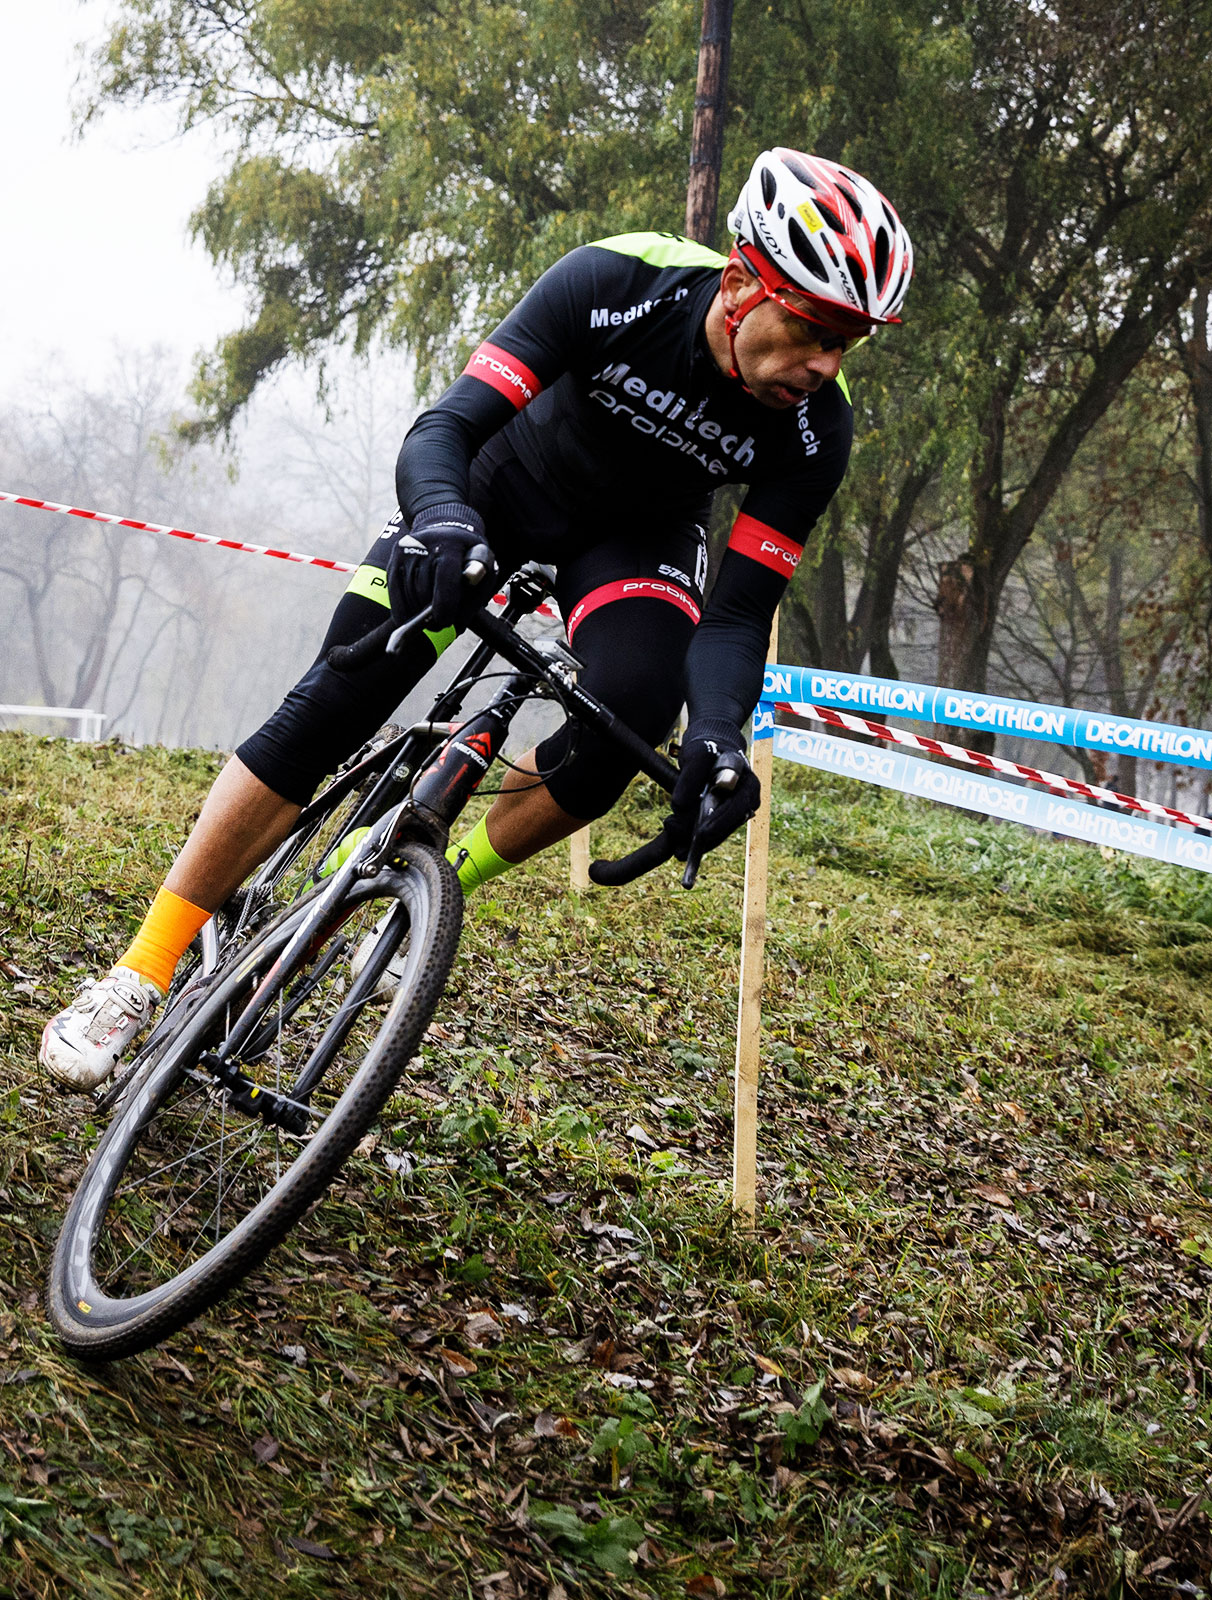
[[[195,229],[256,309],[200,373],[205,426],[337,338],[405,341],[424,389],[574,245],[680,226],[688,24],[641,0],[126,0],[90,115],[171,98],[237,141]]]

